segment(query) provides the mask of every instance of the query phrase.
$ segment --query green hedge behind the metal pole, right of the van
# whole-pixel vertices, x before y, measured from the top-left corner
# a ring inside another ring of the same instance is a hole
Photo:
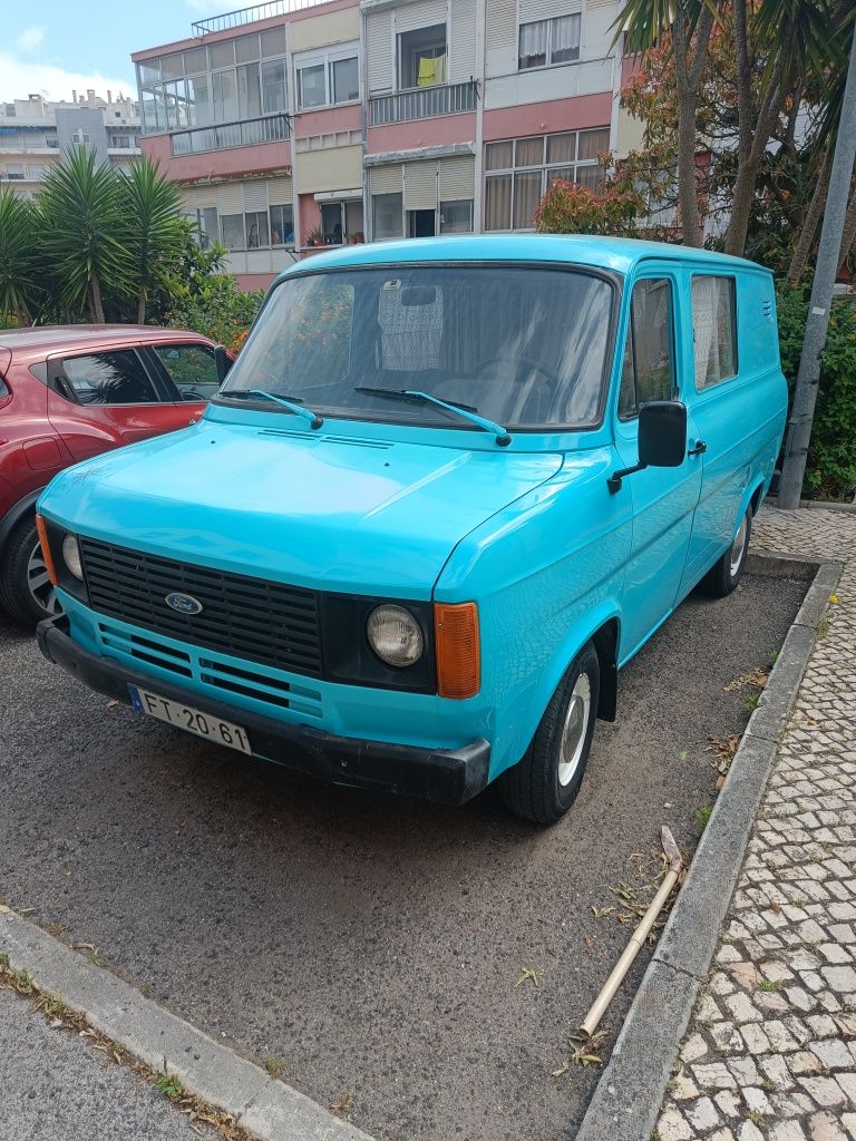
[[[801,289],[778,294],[782,369],[793,397],[806,331],[808,299]],[[856,304],[834,301],[826,347],[821,357],[811,442],[803,494],[811,499],[853,499],[856,493]]]

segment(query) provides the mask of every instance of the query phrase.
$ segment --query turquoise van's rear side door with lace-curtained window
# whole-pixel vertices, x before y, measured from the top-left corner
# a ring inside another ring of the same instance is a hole
[[[703,475],[684,593],[734,540],[758,450],[753,437],[767,419],[762,408],[766,388],[759,385],[754,390],[754,385],[746,383],[745,371],[741,373],[736,276],[693,273],[686,290],[693,322],[687,405],[697,432],[689,450]]]

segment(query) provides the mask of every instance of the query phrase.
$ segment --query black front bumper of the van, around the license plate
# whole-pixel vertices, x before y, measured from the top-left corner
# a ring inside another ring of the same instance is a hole
[[[164,697],[211,717],[237,720],[249,734],[253,753],[332,784],[404,793],[441,804],[463,804],[487,784],[491,746],[481,738],[462,748],[443,750],[334,737],[310,726],[286,725],[258,713],[236,711],[224,702],[90,654],[68,637],[68,618],[64,614],[40,622],[37,634],[45,657],[80,678],[90,689],[130,705],[130,682],[144,689],[154,688]]]

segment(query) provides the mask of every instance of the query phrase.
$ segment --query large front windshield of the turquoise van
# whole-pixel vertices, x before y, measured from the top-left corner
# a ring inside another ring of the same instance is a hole
[[[402,265],[285,278],[224,385],[313,413],[442,424],[422,393],[506,428],[599,418],[613,290],[582,270]],[[274,404],[269,407],[273,410]]]

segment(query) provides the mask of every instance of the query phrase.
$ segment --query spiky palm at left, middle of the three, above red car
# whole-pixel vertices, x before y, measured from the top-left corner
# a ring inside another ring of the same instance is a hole
[[[89,305],[91,319],[104,322],[102,288],[130,291],[129,252],[122,244],[119,176],[96,163],[84,146],[68,151],[45,181],[41,195],[42,244],[58,282],[59,300],[70,308]]]

